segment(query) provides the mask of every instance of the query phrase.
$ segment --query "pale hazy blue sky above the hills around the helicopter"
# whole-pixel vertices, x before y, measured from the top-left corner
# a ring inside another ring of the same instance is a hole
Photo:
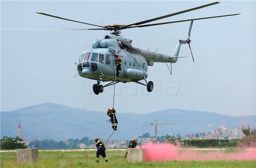
[[[36,14],[49,13],[82,22],[131,24],[214,1],[1,1],[1,29],[95,28]],[[119,113],[149,113],[166,108],[202,110],[226,115],[255,115],[255,1],[220,1],[204,9],[155,21],[241,15],[194,21],[191,47],[195,58],[180,58],[170,75],[165,63],[148,67],[153,92],[135,83],[117,84]],[[133,46],[172,54],[188,37],[190,22],[122,31]],[[108,31],[1,31],[1,110],[44,102],[106,111],[113,87],[95,95],[96,81],[77,73],[74,62]],[[190,56],[182,45],[180,56]],[[169,65],[170,66],[170,65]],[[106,82],[104,82],[106,84]],[[122,89],[121,89],[122,88]]]

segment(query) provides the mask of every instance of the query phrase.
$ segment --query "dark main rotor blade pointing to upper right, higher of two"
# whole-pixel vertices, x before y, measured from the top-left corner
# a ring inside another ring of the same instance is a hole
[[[198,6],[196,8],[191,8],[191,9],[188,9],[188,10],[183,10],[183,11],[172,13],[172,14],[169,14],[169,15],[160,16],[160,17],[156,17],[156,18],[153,18],[153,19],[148,19],[148,20],[137,22],[137,23],[133,23],[133,24],[128,24],[128,25],[125,25],[124,27],[129,27],[129,26],[132,26],[132,25],[140,25],[140,24],[145,24],[145,23],[148,23],[148,22],[153,22],[153,21],[156,21],[156,20],[159,20],[159,19],[164,19],[166,17],[171,17],[171,16],[179,15],[181,13],[186,13],[186,12],[189,12],[189,11],[192,11],[192,10],[201,9],[201,8],[204,8],[204,7],[207,7],[207,6],[211,6],[211,5],[215,5],[215,4],[218,4],[218,3],[219,2],[209,3],[209,4],[206,4],[206,5],[203,5],[203,6]]]

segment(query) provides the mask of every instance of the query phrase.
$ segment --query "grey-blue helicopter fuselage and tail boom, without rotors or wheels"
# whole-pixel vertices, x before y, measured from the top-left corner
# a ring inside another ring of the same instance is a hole
[[[177,62],[178,58],[170,55],[133,47],[131,41],[121,35],[112,34],[94,41],[93,48],[84,51],[79,57],[77,63],[79,76],[98,81],[114,81],[117,55],[121,58],[122,70],[116,81],[123,83],[146,79],[148,66],[153,66],[154,62]],[[113,51],[117,54],[113,54]]]

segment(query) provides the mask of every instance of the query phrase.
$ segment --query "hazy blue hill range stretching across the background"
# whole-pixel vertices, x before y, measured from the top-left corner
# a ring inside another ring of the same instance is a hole
[[[136,111],[134,111],[136,112]],[[16,136],[18,123],[21,123],[25,139],[54,139],[62,140],[79,138],[107,138],[112,133],[111,124],[106,122],[109,117],[106,112],[88,111],[67,107],[55,103],[20,108],[13,111],[1,111],[1,138]],[[240,125],[255,126],[255,116],[229,116],[212,112],[166,109],[148,114],[118,113],[118,131],[112,139],[127,139],[142,135],[155,134],[155,127],[149,123],[175,122],[175,125],[159,125],[158,135],[185,135],[205,132],[225,125],[234,129]]]

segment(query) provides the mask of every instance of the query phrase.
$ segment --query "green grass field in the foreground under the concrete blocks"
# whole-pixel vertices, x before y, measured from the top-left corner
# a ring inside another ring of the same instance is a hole
[[[88,154],[86,162],[84,154]],[[100,163],[95,163],[96,151],[39,151],[39,161],[37,163],[16,163],[11,157],[16,152],[1,152],[1,168],[71,168],[71,167],[198,167],[198,168],[256,168],[256,160],[252,161],[166,161],[166,162],[138,162],[127,163],[124,160],[124,151],[106,151],[109,162],[105,163],[100,157]]]

